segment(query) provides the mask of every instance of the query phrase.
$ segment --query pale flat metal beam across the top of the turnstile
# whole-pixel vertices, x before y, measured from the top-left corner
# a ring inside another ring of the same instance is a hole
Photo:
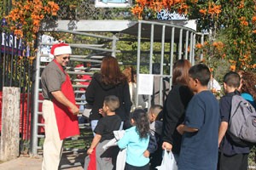
[[[165,23],[173,26],[186,27],[195,31],[195,20],[148,20],[152,23]],[[41,31],[82,31],[82,32],[123,32],[137,36],[138,21],[135,20],[57,20],[42,23]],[[148,37],[148,26],[143,27],[143,37]],[[155,29],[159,35],[159,29]]]

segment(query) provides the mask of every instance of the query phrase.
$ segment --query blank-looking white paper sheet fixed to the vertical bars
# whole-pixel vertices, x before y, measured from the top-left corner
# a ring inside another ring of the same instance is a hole
[[[138,77],[138,94],[153,94],[154,75],[139,74]]]

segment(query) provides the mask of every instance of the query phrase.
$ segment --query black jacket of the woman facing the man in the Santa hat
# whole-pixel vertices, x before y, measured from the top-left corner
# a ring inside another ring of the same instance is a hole
[[[106,85],[102,83],[100,73],[94,74],[85,92],[88,105],[92,105],[90,120],[99,120],[102,117],[99,114],[99,109],[102,109],[104,98],[108,95],[115,95],[119,98],[120,106],[116,110],[116,114],[120,116],[122,121],[128,120],[132,105],[128,82]]]

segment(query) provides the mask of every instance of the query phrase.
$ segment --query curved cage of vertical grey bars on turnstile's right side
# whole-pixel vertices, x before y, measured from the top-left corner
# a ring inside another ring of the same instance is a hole
[[[142,73],[141,68],[144,66],[141,65],[142,60],[147,58],[148,71],[146,74],[154,75],[154,77],[160,77],[160,81],[156,82],[159,83],[160,87],[160,100],[157,103],[159,105],[163,105],[163,95],[165,94],[163,90],[166,90],[163,89],[163,83],[165,83],[163,79],[166,77],[169,79],[169,89],[171,89],[173,63],[177,59],[189,59],[192,65],[195,64],[195,38],[196,36],[201,37],[201,34],[196,33],[195,30],[189,27],[145,20],[139,20],[137,27],[137,78],[139,79],[139,75]],[[129,30],[126,32],[129,32]],[[145,43],[143,38],[145,37],[148,38],[150,43],[150,48],[148,49],[149,53],[146,55],[142,52],[142,44]],[[204,40],[202,38],[201,42],[203,41]],[[159,53],[154,51],[154,46],[156,43],[160,44]],[[154,74],[153,71],[153,65],[155,63],[160,65],[160,72],[158,74]],[[138,84],[137,90],[139,89],[139,86],[140,84]],[[148,95],[148,101],[149,108],[151,105],[151,95]]]

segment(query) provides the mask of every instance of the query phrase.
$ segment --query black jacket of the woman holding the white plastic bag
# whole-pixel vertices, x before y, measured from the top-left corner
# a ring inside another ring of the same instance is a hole
[[[176,128],[183,123],[185,110],[192,97],[193,93],[188,87],[174,85],[164,105],[162,139],[172,144],[172,152],[175,154],[179,154],[182,139]]]

